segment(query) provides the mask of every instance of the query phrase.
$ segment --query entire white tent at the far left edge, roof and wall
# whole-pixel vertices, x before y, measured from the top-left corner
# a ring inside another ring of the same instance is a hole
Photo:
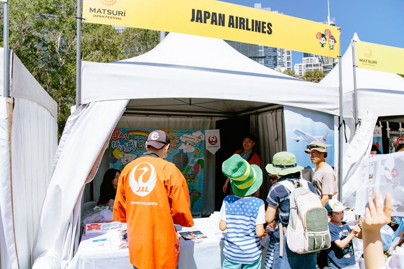
[[[0,96],[0,267],[29,268],[58,143],[58,105],[14,52],[9,63],[11,97]],[[2,57],[1,94],[3,74]]]

